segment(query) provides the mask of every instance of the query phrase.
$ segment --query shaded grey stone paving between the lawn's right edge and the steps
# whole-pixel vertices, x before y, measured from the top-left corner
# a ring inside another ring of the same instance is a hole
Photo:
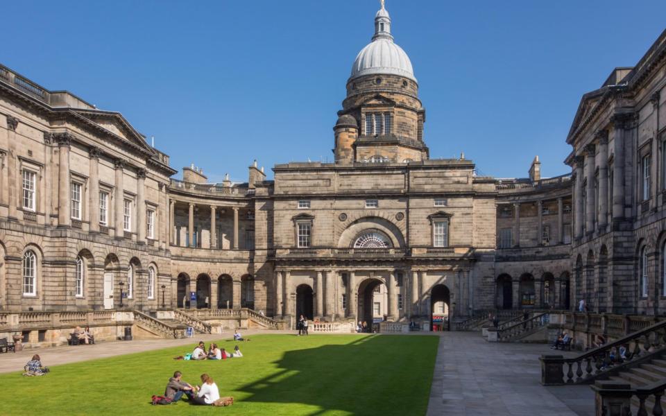
[[[479,332],[441,333],[427,415],[594,415],[588,385],[540,384],[541,354],[554,351],[545,344],[487,343]]]

